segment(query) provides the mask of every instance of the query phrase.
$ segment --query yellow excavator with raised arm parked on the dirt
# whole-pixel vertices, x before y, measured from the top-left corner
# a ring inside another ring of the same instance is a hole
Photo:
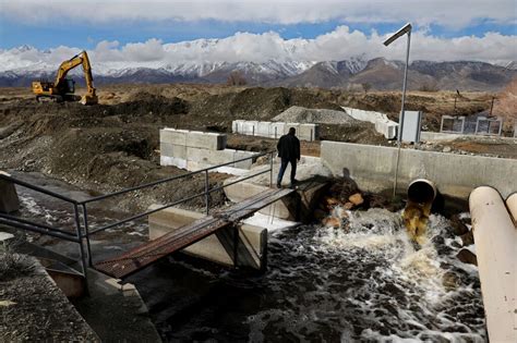
[[[75,82],[71,78],[67,78],[67,74],[77,65],[83,65],[84,78],[86,81],[87,88],[86,94],[81,97],[80,102],[83,105],[98,103],[98,98],[94,88],[94,77],[92,76],[92,66],[89,64],[89,59],[86,51],[82,51],[70,60],[62,62],[59,66],[56,82],[33,82],[33,93],[36,95],[36,100],[38,102],[43,102],[45,100],[51,100],[55,102],[76,101],[79,96],[74,95]]]

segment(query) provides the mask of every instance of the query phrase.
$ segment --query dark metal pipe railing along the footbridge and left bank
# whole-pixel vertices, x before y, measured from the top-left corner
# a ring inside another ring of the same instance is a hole
[[[142,185],[130,187],[130,188],[124,188],[124,189],[113,192],[113,193],[109,193],[109,194],[106,194],[106,195],[91,197],[91,198],[85,199],[85,200],[75,200],[73,198],[63,196],[59,193],[56,193],[56,192],[36,186],[34,184],[24,182],[22,180],[19,180],[16,177],[13,177],[13,176],[10,176],[10,175],[0,173],[0,179],[3,179],[8,182],[12,182],[15,185],[26,187],[26,188],[35,191],[37,193],[41,193],[41,194],[45,194],[45,195],[50,196],[52,198],[60,199],[64,203],[70,204],[73,208],[74,232],[63,230],[63,228],[58,228],[58,226],[55,226],[55,225],[47,225],[47,224],[43,224],[43,223],[37,223],[37,222],[34,222],[34,221],[31,221],[31,220],[26,220],[26,219],[16,217],[16,216],[2,213],[2,212],[0,212],[0,224],[7,224],[7,225],[10,225],[10,226],[13,226],[13,228],[16,228],[16,229],[27,230],[27,231],[49,235],[49,236],[52,236],[52,237],[57,237],[57,238],[60,238],[60,240],[64,240],[64,241],[68,241],[68,242],[76,243],[79,245],[79,252],[80,252],[80,256],[81,256],[81,269],[82,269],[81,273],[86,279],[86,268],[88,266],[89,267],[93,266],[93,254],[92,254],[92,246],[91,246],[91,242],[89,242],[91,235],[103,232],[103,231],[106,231],[108,229],[112,229],[112,228],[122,225],[124,223],[141,219],[143,217],[149,216],[149,215],[155,213],[157,211],[160,211],[160,210],[164,210],[166,208],[190,201],[192,199],[195,199],[195,198],[202,197],[202,196],[204,196],[204,199],[205,199],[205,213],[206,213],[206,216],[208,216],[209,215],[209,208],[211,208],[209,196],[214,192],[221,191],[225,187],[235,185],[237,183],[243,182],[245,180],[249,180],[249,179],[252,179],[252,177],[258,176],[261,174],[265,174],[265,173],[269,173],[269,187],[270,187],[273,185],[273,161],[274,161],[274,158],[275,158],[274,154],[275,154],[275,151],[262,152],[262,154],[257,154],[257,155],[254,155],[254,156],[251,156],[251,157],[245,157],[245,158],[242,158],[242,159],[239,159],[239,160],[235,160],[235,161],[231,161],[231,162],[221,163],[221,164],[217,164],[217,166],[214,166],[214,167],[208,167],[208,168],[205,168],[205,169],[201,169],[201,170],[197,170],[197,171],[188,172],[188,173],[184,173],[184,174],[181,174],[181,175],[176,175],[176,176],[171,176],[171,177],[149,182],[149,183],[146,183],[146,184],[142,184]],[[268,163],[269,166],[268,166],[267,169],[264,168],[263,170],[258,170],[257,172],[245,175],[244,177],[239,177],[237,181],[233,181],[233,182],[230,182],[230,183],[219,185],[219,186],[215,186],[215,187],[211,188],[211,186],[209,186],[209,175],[208,175],[208,173],[211,171],[215,171],[215,170],[217,170],[221,167],[232,166],[235,163],[242,162],[242,161],[250,160],[250,159],[251,160],[256,160],[257,158],[264,157],[264,156],[269,157],[269,163]],[[125,195],[125,194],[131,193],[131,192],[147,189],[147,188],[151,188],[151,187],[154,187],[154,186],[166,184],[166,183],[169,183],[169,182],[172,182],[172,181],[178,181],[178,180],[191,177],[191,176],[199,175],[199,174],[204,174],[204,183],[205,183],[204,184],[204,192],[200,192],[200,193],[196,193],[194,195],[191,195],[191,196],[181,198],[179,200],[172,201],[170,204],[163,205],[163,206],[159,206],[157,208],[141,212],[139,215],[134,215],[134,216],[118,220],[116,222],[103,225],[100,228],[96,228],[95,230],[92,230],[92,231],[89,230],[88,205],[94,204],[94,203],[98,203],[98,201],[101,201],[101,200],[106,200],[106,199],[109,199],[109,198],[113,198],[113,197],[117,197],[117,196],[120,196],[120,195]],[[84,246],[85,243],[86,243],[86,247]]]

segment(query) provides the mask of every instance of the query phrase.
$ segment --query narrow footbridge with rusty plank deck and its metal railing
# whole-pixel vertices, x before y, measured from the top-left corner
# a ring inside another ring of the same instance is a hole
[[[245,176],[242,176],[239,180],[233,181],[231,183],[227,183],[225,185],[216,185],[211,188],[208,172],[215,171],[216,169],[220,167],[232,166],[233,163],[238,163],[240,161],[244,161],[248,159],[256,160],[257,158],[263,157],[263,156],[268,157],[269,159],[268,166],[266,164],[263,168],[260,168],[257,171],[253,171],[252,173],[247,174]],[[44,235],[49,235],[49,236],[64,240],[68,242],[76,243],[79,246],[79,253],[81,257],[80,272],[85,279],[86,279],[87,267],[95,268],[113,278],[123,279],[160,260],[161,258],[169,256],[170,254],[185,248],[211,234],[221,231],[221,229],[235,226],[233,224],[236,222],[239,222],[240,220],[252,216],[260,209],[293,193],[294,191],[290,188],[276,189],[276,188],[270,187],[272,181],[273,181],[273,160],[274,160],[273,151],[258,154],[251,158],[248,157],[248,158],[239,159],[232,162],[202,169],[199,171],[188,172],[181,175],[151,182],[151,183],[131,187],[131,188],[125,188],[125,189],[115,192],[111,194],[106,194],[106,195],[101,195],[97,197],[91,197],[85,200],[76,200],[76,199],[67,197],[64,195],[46,189],[44,187],[37,186],[35,184],[24,182],[7,173],[0,173],[0,181],[10,182],[16,185],[16,187],[26,187],[28,189],[32,189],[33,192],[37,192],[46,196],[50,196],[55,199],[68,203],[72,207],[74,225],[73,228],[59,228],[56,225],[50,225],[48,223],[41,223],[41,222],[36,222],[34,220],[26,219],[16,213],[3,213],[3,212],[0,212],[0,224],[10,225],[10,226],[26,230],[26,231],[37,232]],[[269,188],[267,188],[266,191],[260,194],[251,196],[250,198],[239,204],[235,204],[226,209],[218,210],[218,211],[214,211],[214,210],[211,211],[209,196],[213,192],[221,191],[227,186],[240,183],[242,181],[245,181],[245,180],[249,180],[249,179],[252,179],[265,173],[269,173]],[[204,192],[200,192],[197,194],[193,194],[187,198],[182,198],[171,204],[166,204],[157,208],[153,208],[151,210],[144,211],[142,213],[134,215],[129,218],[118,220],[116,222],[111,222],[100,228],[95,228],[94,230],[91,229],[91,224],[88,220],[89,219],[88,206],[91,206],[94,203],[106,200],[108,198],[115,198],[121,195],[127,195],[129,193],[141,191],[141,189],[152,189],[153,187],[157,185],[166,184],[172,181],[180,180],[183,182],[188,182],[188,180],[192,180],[192,176],[203,175],[203,174],[204,174],[204,180],[205,180]],[[201,218],[192,222],[191,224],[179,228],[178,230],[175,230],[173,232],[167,233],[156,240],[146,242],[133,249],[130,249],[129,252],[123,253],[120,256],[117,256],[104,261],[94,262],[92,248],[91,248],[91,237],[94,234],[106,231],[108,229],[113,230],[115,228],[120,226],[122,224],[127,224],[134,220],[145,218],[154,212],[164,210],[172,206],[177,206],[179,204],[192,200],[197,197],[204,197],[205,199],[206,217]],[[237,233],[235,234],[235,236],[237,236]],[[237,253],[238,252],[236,252],[236,256],[237,256]]]

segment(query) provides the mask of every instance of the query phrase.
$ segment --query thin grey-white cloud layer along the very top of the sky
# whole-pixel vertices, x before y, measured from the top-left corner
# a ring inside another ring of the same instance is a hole
[[[516,7],[515,0],[0,0],[3,15],[25,23],[69,19],[104,24],[168,20],[297,24],[338,20],[459,28],[480,20],[515,24]]]

